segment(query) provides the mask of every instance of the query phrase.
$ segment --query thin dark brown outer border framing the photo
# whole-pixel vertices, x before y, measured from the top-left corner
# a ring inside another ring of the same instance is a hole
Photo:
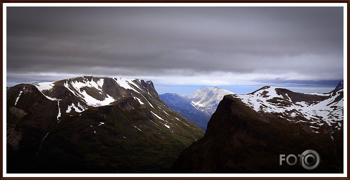
[[[91,3],[103,3],[103,2],[113,2],[113,3],[123,3],[123,2],[129,2],[129,3],[137,3],[137,2],[162,2],[162,3],[179,3],[179,2],[192,2],[192,3],[200,3],[200,2],[215,2],[215,3],[228,3],[228,2],[234,2],[234,3],[253,3],[253,2],[263,2],[263,3],[272,3],[272,2],[278,2],[278,3],[319,3],[319,2],[324,2],[324,3],[347,3],[347,9],[348,9],[348,38],[347,38],[347,45],[348,45],[348,66],[346,67],[349,69],[349,58],[350,58],[350,0],[0,0],[0,40],[1,40],[1,48],[0,48],[0,60],[1,60],[1,65],[0,65],[0,82],[1,82],[1,88],[0,88],[0,102],[2,103],[3,101],[3,81],[2,81],[2,66],[3,66],[3,59],[2,59],[2,32],[3,32],[3,27],[2,27],[2,11],[3,11],[3,3],[20,3],[20,2],[30,2],[30,3],[39,3],[39,2],[59,2],[59,3],[73,3],[73,2],[91,2]],[[347,74],[348,81],[349,81],[349,74]],[[348,83],[348,82],[347,82]],[[349,95],[349,86],[346,85],[348,88],[348,95]],[[348,103],[349,105],[349,103]],[[349,112],[349,106],[348,106],[348,112]],[[164,177],[157,177],[157,178],[69,178],[69,177],[64,177],[64,178],[4,178],[2,177],[2,142],[5,140],[5,137],[2,136],[2,104],[0,105],[0,115],[1,115],[1,121],[0,121],[0,143],[1,143],[1,149],[0,149],[0,180],[350,180],[350,164],[349,164],[349,151],[350,151],[350,145],[349,145],[349,129],[350,129],[350,123],[348,121],[348,174],[346,178],[328,178],[328,177],[322,177],[322,178],[282,178],[282,177],[277,177],[277,178],[233,178],[233,177],[227,177],[227,178],[164,178]],[[344,119],[347,120],[347,119]]]

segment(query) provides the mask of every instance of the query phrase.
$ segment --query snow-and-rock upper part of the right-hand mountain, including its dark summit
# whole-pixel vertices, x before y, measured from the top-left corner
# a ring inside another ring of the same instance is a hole
[[[274,113],[295,123],[307,123],[314,133],[321,127],[340,130],[344,119],[343,88],[329,93],[299,93],[291,90],[263,87],[246,95],[234,94],[256,112]]]

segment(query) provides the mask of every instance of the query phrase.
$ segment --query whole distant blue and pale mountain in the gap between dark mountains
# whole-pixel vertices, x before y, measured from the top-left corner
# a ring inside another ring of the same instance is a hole
[[[161,94],[160,98],[170,109],[179,112],[187,120],[206,130],[211,114],[215,112],[220,100],[226,94],[233,94],[233,92],[212,87],[200,88],[188,96],[165,93]]]

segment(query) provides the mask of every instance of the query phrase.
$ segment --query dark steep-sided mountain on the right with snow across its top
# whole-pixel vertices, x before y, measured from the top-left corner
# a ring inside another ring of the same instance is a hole
[[[203,138],[181,153],[173,171],[341,173],[343,104],[343,88],[299,93],[266,86],[250,94],[226,95]],[[321,157],[316,169],[280,165],[280,154],[298,155],[309,149]]]

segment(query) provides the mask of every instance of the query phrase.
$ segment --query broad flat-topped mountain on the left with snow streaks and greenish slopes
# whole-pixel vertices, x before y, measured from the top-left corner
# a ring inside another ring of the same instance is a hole
[[[6,91],[7,172],[167,172],[204,134],[151,81],[82,76]]]

